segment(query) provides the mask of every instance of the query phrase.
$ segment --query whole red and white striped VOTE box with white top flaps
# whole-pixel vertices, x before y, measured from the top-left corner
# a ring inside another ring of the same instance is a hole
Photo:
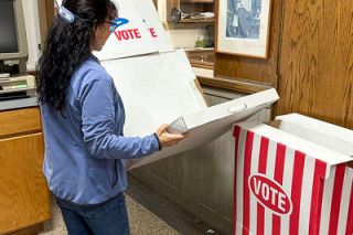
[[[293,116],[235,125],[234,234],[352,235],[353,131]]]

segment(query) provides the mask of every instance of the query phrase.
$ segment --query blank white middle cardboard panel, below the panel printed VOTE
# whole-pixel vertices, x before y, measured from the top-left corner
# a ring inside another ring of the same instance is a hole
[[[207,108],[183,51],[104,61],[126,108],[125,135],[150,135],[163,122]]]

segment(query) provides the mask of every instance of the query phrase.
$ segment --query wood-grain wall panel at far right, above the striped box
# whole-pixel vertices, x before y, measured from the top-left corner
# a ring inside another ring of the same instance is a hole
[[[288,0],[277,115],[300,113],[353,127],[353,4]]]

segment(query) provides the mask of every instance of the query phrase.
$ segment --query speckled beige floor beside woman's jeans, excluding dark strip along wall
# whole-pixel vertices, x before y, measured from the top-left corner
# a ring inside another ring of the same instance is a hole
[[[52,200],[53,201],[53,200]],[[130,196],[126,195],[129,213],[131,235],[179,235],[175,229],[169,226],[161,218],[148,211]],[[66,235],[66,227],[61,216],[60,209],[53,201],[53,220],[45,224],[45,232],[40,235]]]

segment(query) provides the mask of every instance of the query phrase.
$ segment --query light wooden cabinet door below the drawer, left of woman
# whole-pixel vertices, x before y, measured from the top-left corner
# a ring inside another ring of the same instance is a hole
[[[0,234],[50,218],[42,132],[0,139]]]

